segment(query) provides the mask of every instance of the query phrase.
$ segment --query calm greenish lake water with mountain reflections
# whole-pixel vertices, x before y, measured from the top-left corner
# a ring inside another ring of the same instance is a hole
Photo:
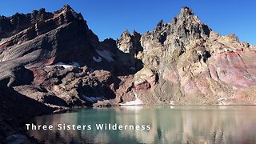
[[[53,130],[28,131],[46,143],[256,143],[256,106],[80,109],[37,117],[34,122],[54,126]],[[86,130],[58,130],[58,124],[62,129],[64,124],[87,127]],[[96,124],[128,128],[97,130]],[[132,130],[130,125],[139,126],[139,130]],[[142,130],[143,125],[149,125],[150,130]]]

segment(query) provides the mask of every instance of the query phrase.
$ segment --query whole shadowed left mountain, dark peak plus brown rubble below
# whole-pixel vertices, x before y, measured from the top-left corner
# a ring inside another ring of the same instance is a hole
[[[70,6],[2,16],[0,84],[53,106],[84,106],[88,94],[114,98],[109,86],[94,78],[97,70],[113,70],[113,54],[102,48],[111,42],[99,42]],[[97,102],[89,100],[88,105]]]

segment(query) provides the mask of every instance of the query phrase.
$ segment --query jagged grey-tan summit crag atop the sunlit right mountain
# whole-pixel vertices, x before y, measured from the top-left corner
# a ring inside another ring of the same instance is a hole
[[[210,31],[210,28],[202,23],[192,10],[184,7],[171,22],[160,21],[154,30],[142,34],[141,43],[144,51],[142,62],[152,69],[158,69],[161,68],[161,63],[175,62],[186,52],[192,53],[191,60],[196,61],[198,58],[194,58],[193,53],[203,54],[206,51],[202,43],[209,36]]]

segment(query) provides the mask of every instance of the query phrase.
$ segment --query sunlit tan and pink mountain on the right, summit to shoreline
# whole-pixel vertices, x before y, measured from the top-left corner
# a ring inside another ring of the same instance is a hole
[[[144,103],[256,102],[255,46],[240,43],[234,34],[214,32],[190,8],[183,7],[171,22],[160,21],[139,42],[142,51],[134,58],[140,58],[158,80],[150,89],[136,91]],[[136,79],[136,89],[135,83]]]

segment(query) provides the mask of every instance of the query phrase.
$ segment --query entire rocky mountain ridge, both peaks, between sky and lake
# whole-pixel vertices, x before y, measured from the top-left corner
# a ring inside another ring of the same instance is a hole
[[[70,6],[0,18],[0,84],[52,107],[254,104],[255,56],[188,7],[146,34],[103,42]]]

